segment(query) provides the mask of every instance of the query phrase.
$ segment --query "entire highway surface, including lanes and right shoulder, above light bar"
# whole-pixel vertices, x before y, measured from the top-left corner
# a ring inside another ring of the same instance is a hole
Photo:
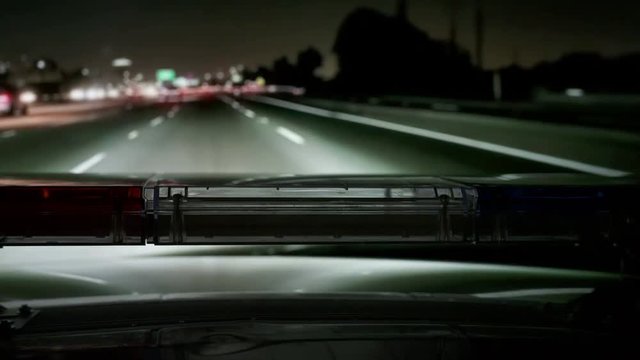
[[[582,172],[617,177],[636,173],[640,164],[640,137],[602,129],[567,132],[544,124],[486,122],[494,128],[483,133],[470,121],[429,119],[428,114],[413,120],[388,111],[354,116],[269,98],[116,105],[66,105],[1,118],[0,174]],[[536,147],[545,141],[553,144]]]

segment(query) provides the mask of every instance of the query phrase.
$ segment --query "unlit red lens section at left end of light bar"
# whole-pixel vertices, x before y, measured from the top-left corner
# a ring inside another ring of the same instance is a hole
[[[0,245],[144,243],[136,186],[0,188]]]

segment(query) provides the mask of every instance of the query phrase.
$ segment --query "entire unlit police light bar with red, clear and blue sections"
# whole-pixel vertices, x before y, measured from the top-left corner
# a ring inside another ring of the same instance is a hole
[[[0,246],[547,241],[637,254],[639,200],[635,182],[0,179]]]

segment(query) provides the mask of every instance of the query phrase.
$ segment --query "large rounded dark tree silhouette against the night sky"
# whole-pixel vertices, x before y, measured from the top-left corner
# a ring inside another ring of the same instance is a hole
[[[333,50],[338,91],[468,96],[474,90],[469,83],[477,71],[468,53],[376,10],[347,16]]]

